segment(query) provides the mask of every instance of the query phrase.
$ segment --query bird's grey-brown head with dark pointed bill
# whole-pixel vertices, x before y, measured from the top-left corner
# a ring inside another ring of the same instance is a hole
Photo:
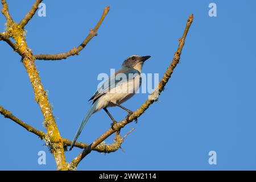
[[[139,72],[141,72],[144,61],[150,59],[150,57],[151,56],[132,55],[128,57],[125,61],[123,61],[122,66],[134,68],[134,69],[137,69]]]

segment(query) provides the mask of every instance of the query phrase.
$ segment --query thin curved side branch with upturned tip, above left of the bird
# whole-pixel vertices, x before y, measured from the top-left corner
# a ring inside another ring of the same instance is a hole
[[[97,30],[100,28],[104,18],[106,15],[109,13],[109,7],[105,7],[103,14],[101,15],[101,19],[98,21],[96,27],[90,30],[89,35],[85,38],[85,40],[80,44],[79,47],[74,47],[73,49],[65,52],[65,53],[56,53],[53,55],[49,54],[38,54],[35,55],[35,59],[37,60],[61,60],[61,59],[66,59],[69,56],[73,55],[79,55],[79,52],[84,49],[84,47],[90,42],[90,40],[94,37],[97,36]]]

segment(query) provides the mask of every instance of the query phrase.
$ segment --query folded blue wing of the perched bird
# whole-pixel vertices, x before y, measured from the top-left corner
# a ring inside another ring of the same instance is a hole
[[[120,74],[124,74],[124,75],[120,75]],[[129,74],[133,74],[133,76],[131,76]],[[100,86],[100,88],[98,88],[98,90],[93,94],[93,96],[89,99],[89,101],[93,101],[93,103],[94,103],[95,101],[98,100],[98,98],[100,98],[104,94],[108,93],[109,90],[115,88],[116,85],[122,84],[123,82],[127,82],[128,80],[133,79],[134,76],[137,74],[139,75],[141,73],[137,69],[134,69],[134,68],[124,67],[124,68],[120,69],[113,76],[111,76],[108,80],[106,80]],[[121,79],[122,76],[126,76],[126,79],[125,80]]]

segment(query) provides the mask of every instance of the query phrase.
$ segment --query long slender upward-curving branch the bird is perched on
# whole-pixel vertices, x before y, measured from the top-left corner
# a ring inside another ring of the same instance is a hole
[[[184,34],[183,34],[182,38],[179,39],[179,46],[177,48],[177,51],[174,53],[174,58],[172,59],[171,64],[167,68],[167,71],[164,73],[164,76],[158,83],[158,86],[155,88],[154,92],[151,93],[151,95],[150,95],[151,97],[148,98],[148,100],[146,102],[144,102],[144,104],[141,107],[139,107],[139,109],[134,111],[134,113],[131,114],[127,119],[123,119],[122,121],[116,123],[113,126],[114,130],[112,129],[112,127],[110,127],[110,129],[108,129],[108,131],[106,131],[99,138],[97,138],[92,144],[90,144],[88,147],[86,147],[75,159],[72,160],[71,164],[69,165],[70,168],[77,167],[77,165],[81,162],[81,160],[84,159],[86,155],[90,154],[90,152],[93,150],[93,148],[98,146],[98,144],[100,144],[102,141],[104,141],[106,138],[108,138],[110,135],[112,135],[116,131],[121,130],[122,127],[124,127],[125,125],[127,125],[128,123],[133,121],[134,119],[140,117],[144,113],[144,111],[146,111],[148,109],[148,107],[151,104],[153,104],[156,100],[158,100],[158,96],[163,91],[164,86],[167,84],[172,73],[174,72],[176,65],[179,63],[181,51],[183,49],[184,42],[185,42],[185,38],[188,34],[188,30],[189,30],[189,27],[191,26],[192,22],[193,22],[193,14],[191,14],[187,20],[187,25],[185,27]],[[154,98],[154,99],[152,99],[152,98]]]

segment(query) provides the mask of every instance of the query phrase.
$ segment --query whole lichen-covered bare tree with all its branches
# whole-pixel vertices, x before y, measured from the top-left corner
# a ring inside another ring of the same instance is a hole
[[[24,68],[27,71],[32,88],[34,89],[35,100],[38,103],[44,117],[44,126],[47,129],[47,133],[37,130],[34,127],[28,125],[27,123],[21,121],[20,119],[16,118],[9,110],[4,109],[2,106],[0,106],[0,114],[18,123],[27,131],[30,131],[31,133],[38,135],[39,138],[44,139],[46,141],[46,144],[48,144],[49,147],[51,148],[52,154],[56,161],[57,169],[73,170],[73,169],[76,169],[77,165],[81,162],[81,160],[86,155],[88,155],[92,150],[109,153],[109,152],[118,150],[118,148],[121,148],[121,144],[123,140],[133,130],[131,130],[123,138],[121,137],[121,135],[117,133],[117,131],[121,130],[122,127],[125,127],[128,123],[132,122],[134,119],[137,119],[138,117],[140,117],[151,104],[153,104],[156,100],[158,100],[160,93],[163,91],[164,86],[167,84],[176,65],[179,63],[185,38],[187,36],[189,27],[191,26],[191,23],[193,21],[193,14],[188,18],[184,34],[182,38],[179,39],[179,46],[177,48],[177,51],[174,54],[174,58],[172,59],[171,64],[167,68],[167,71],[164,73],[162,79],[159,81],[158,86],[155,88],[154,92],[152,92],[148,100],[145,101],[144,104],[141,105],[141,107],[139,107],[139,109],[134,111],[133,114],[128,115],[129,117],[127,116],[126,119],[123,119],[122,121],[115,123],[113,127],[110,127],[110,129],[108,129],[104,134],[102,134],[100,137],[94,140],[93,143],[86,144],[82,142],[76,142],[75,146],[79,148],[84,148],[84,150],[69,164],[65,160],[64,152],[66,147],[71,145],[71,140],[63,139],[60,135],[59,129],[57,128],[57,125],[56,125],[55,117],[53,116],[52,107],[49,104],[48,96],[46,94],[46,91],[43,88],[43,84],[41,82],[39,72],[36,69],[35,60],[36,59],[60,60],[60,59],[65,59],[68,56],[78,55],[79,52],[82,49],[84,49],[84,47],[89,43],[89,41],[94,36],[97,36],[97,30],[101,26],[103,20],[105,19],[105,16],[108,14],[109,7],[105,7],[100,20],[96,24],[96,27],[90,30],[88,36],[79,45],[79,47],[77,48],[74,47],[73,49],[65,53],[57,53],[53,55],[46,55],[46,54],[33,55],[32,50],[27,46],[26,30],[24,30],[24,26],[26,26],[29,20],[34,16],[40,2],[42,2],[42,0],[36,0],[34,5],[31,7],[31,10],[26,14],[25,18],[22,19],[20,23],[16,23],[14,22],[13,18],[11,18],[11,15],[9,13],[9,7],[6,1],[1,0],[1,3],[3,5],[2,14],[5,15],[7,23],[6,23],[6,31],[0,32],[0,40],[3,40],[6,43],[8,43],[14,49],[14,51],[18,52],[19,55],[22,57],[22,63],[24,65]],[[10,38],[13,38],[15,42],[13,42]],[[114,133],[115,133],[114,143],[105,144],[104,140]]]

